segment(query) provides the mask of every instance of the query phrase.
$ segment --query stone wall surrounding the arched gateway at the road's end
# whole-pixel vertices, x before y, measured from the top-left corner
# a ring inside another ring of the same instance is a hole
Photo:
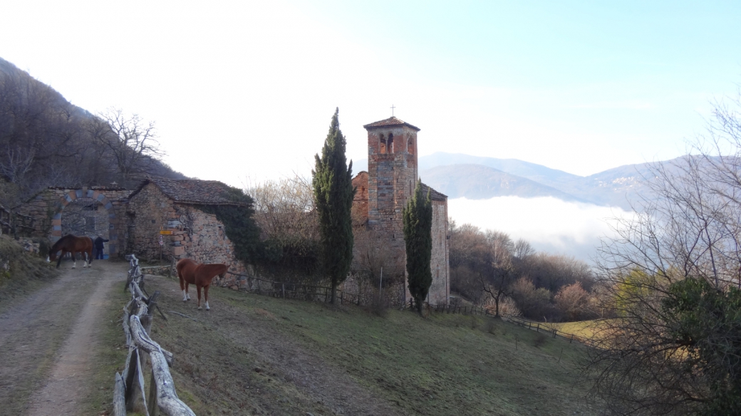
[[[126,242],[125,204],[131,191],[122,188],[83,187],[47,188],[39,192],[25,204],[16,207],[19,213],[34,218],[33,235],[57,241],[62,237],[62,215],[64,209],[78,198],[91,198],[101,204],[107,216],[108,252],[114,255],[123,255],[121,248]]]

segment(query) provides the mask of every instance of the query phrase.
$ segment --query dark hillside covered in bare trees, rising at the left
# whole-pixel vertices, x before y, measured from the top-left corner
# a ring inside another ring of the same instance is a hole
[[[49,186],[185,178],[163,154],[154,125],[138,115],[90,114],[0,58],[0,204],[14,207]]]

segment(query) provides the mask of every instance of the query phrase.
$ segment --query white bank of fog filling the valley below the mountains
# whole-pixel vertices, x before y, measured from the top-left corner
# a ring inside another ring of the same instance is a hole
[[[502,196],[448,200],[448,215],[458,225],[507,232],[514,240],[530,241],[539,252],[571,255],[592,264],[599,239],[614,235],[614,218],[629,217],[631,212],[551,197]]]

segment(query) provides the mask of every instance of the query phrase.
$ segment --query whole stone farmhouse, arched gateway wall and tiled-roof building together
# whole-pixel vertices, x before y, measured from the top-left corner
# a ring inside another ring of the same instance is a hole
[[[193,258],[225,263],[236,272],[237,261],[224,224],[197,207],[239,204],[225,197],[227,185],[198,179],[148,178],[133,190],[116,187],[68,189],[50,187],[16,209],[33,218],[33,235],[57,241],[63,232],[109,240],[111,258],[132,252],[142,258]],[[222,286],[237,286],[227,275]]]

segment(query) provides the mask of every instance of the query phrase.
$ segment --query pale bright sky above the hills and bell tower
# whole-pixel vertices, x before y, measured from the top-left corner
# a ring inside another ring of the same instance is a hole
[[[310,175],[336,107],[356,160],[392,105],[420,155],[666,160],[741,82],[739,1],[0,2],[2,58],[238,187]]]

